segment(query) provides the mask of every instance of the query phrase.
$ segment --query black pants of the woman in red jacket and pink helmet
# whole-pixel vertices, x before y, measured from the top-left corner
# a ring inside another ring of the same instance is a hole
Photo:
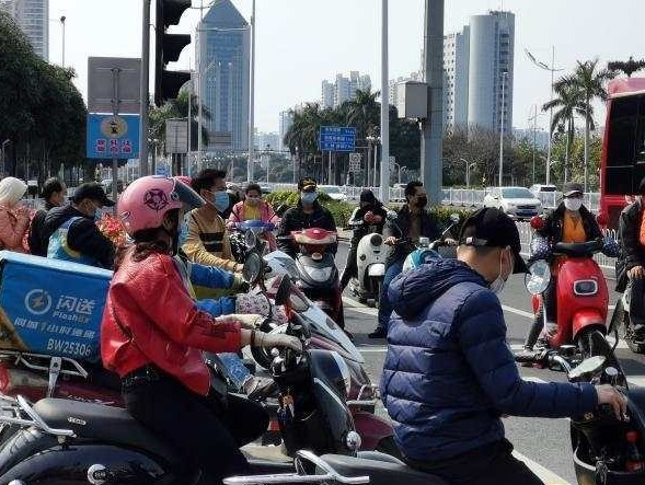
[[[201,470],[200,483],[221,484],[227,476],[246,473],[249,463],[239,448],[268,426],[257,403],[229,395],[222,406],[218,397],[199,396],[163,374],[124,386],[124,400],[135,419]]]

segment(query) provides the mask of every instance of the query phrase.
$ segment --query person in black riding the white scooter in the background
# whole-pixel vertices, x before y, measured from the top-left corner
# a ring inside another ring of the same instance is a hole
[[[356,250],[358,249],[358,243],[364,235],[370,232],[382,234],[385,216],[387,212],[383,209],[383,205],[377,199],[373,193],[369,188],[362,190],[358,207],[354,209],[347,222],[347,226],[354,228],[354,233],[352,234],[352,245],[349,246],[349,253],[345,262],[345,269],[341,276],[341,288],[343,290],[352,277],[357,276]]]

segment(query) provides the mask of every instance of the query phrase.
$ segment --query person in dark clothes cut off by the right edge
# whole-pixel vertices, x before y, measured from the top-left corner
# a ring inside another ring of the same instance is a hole
[[[638,196],[623,209],[619,221],[621,257],[617,263],[617,291],[630,291],[630,322],[634,339],[645,340],[645,217],[643,195],[645,178],[638,185]]]

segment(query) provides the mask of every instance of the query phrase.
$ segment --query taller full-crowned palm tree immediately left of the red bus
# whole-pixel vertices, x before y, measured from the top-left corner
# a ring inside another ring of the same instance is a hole
[[[585,192],[587,192],[588,183],[588,166],[589,166],[589,130],[594,125],[591,102],[596,97],[607,100],[607,90],[604,84],[613,78],[613,74],[608,69],[597,70],[598,59],[587,60],[585,62],[577,61],[578,66],[573,76],[565,77],[555,83],[568,84],[580,92],[585,107]]]

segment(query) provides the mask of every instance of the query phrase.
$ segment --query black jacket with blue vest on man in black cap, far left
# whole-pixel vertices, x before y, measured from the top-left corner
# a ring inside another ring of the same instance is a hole
[[[69,228],[67,233],[69,247],[95,257],[104,268],[111,269],[114,266],[114,244],[99,231],[93,219],[74,209],[71,204],[55,207],[47,212],[43,241],[48,245],[51,234],[72,217],[81,217],[82,219],[73,222]]]

